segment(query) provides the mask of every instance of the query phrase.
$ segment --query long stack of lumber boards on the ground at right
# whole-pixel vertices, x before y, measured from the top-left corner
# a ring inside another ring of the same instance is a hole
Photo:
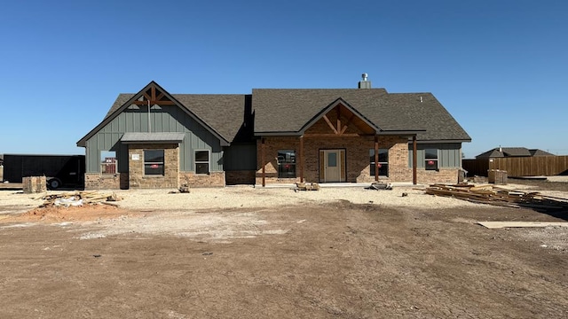
[[[473,203],[509,207],[568,210],[567,198],[545,196],[538,191],[513,191],[493,185],[432,184],[426,194],[468,200]]]

